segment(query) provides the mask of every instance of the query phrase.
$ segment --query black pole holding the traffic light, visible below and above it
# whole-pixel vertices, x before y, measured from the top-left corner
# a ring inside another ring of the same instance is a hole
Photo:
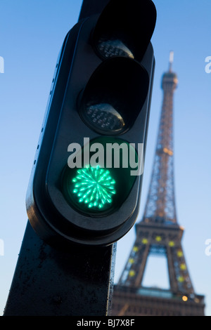
[[[106,4],[84,0],[79,20]],[[28,221],[4,316],[108,315],[114,258],[115,244],[53,249]]]

